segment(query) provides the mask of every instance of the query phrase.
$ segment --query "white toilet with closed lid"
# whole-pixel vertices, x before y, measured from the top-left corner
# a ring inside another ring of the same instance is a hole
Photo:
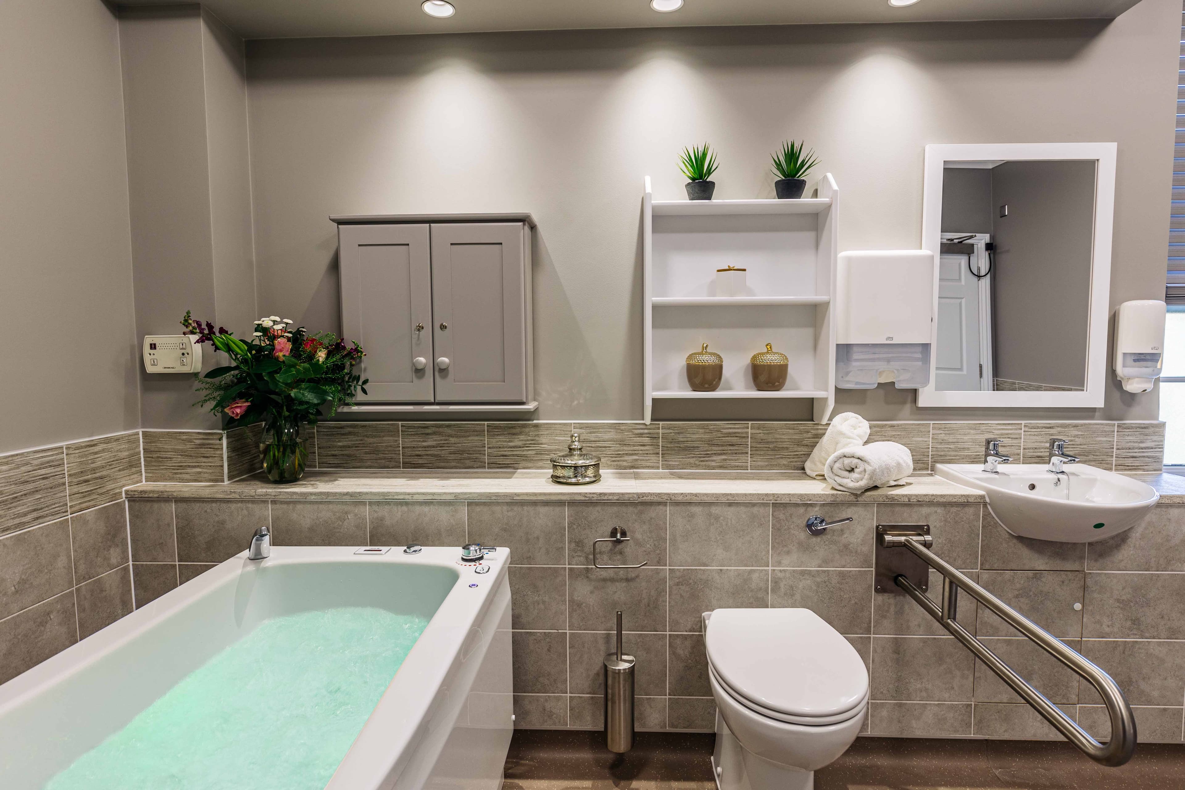
[[[809,609],[717,609],[704,621],[717,786],[811,790],[864,725],[864,661]]]

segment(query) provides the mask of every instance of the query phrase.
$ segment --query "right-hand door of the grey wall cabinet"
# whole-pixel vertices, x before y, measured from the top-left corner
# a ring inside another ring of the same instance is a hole
[[[436,400],[526,398],[521,223],[433,225]]]

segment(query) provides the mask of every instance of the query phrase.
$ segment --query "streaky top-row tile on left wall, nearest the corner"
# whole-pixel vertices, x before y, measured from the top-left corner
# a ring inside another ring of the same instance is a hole
[[[143,482],[140,431],[66,445],[70,512],[123,499],[123,487]]]

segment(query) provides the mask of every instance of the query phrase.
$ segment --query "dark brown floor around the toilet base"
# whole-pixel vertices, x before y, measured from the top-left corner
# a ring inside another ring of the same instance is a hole
[[[505,790],[715,790],[715,736],[638,733],[623,756],[600,732],[519,730]],[[860,738],[815,773],[815,790],[1185,790],[1185,745],[1142,744],[1096,765],[1066,743]]]

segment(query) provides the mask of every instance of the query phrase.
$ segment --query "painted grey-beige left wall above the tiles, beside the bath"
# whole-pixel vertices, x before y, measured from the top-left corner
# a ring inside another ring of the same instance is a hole
[[[136,428],[115,17],[0,2],[0,452]]]

